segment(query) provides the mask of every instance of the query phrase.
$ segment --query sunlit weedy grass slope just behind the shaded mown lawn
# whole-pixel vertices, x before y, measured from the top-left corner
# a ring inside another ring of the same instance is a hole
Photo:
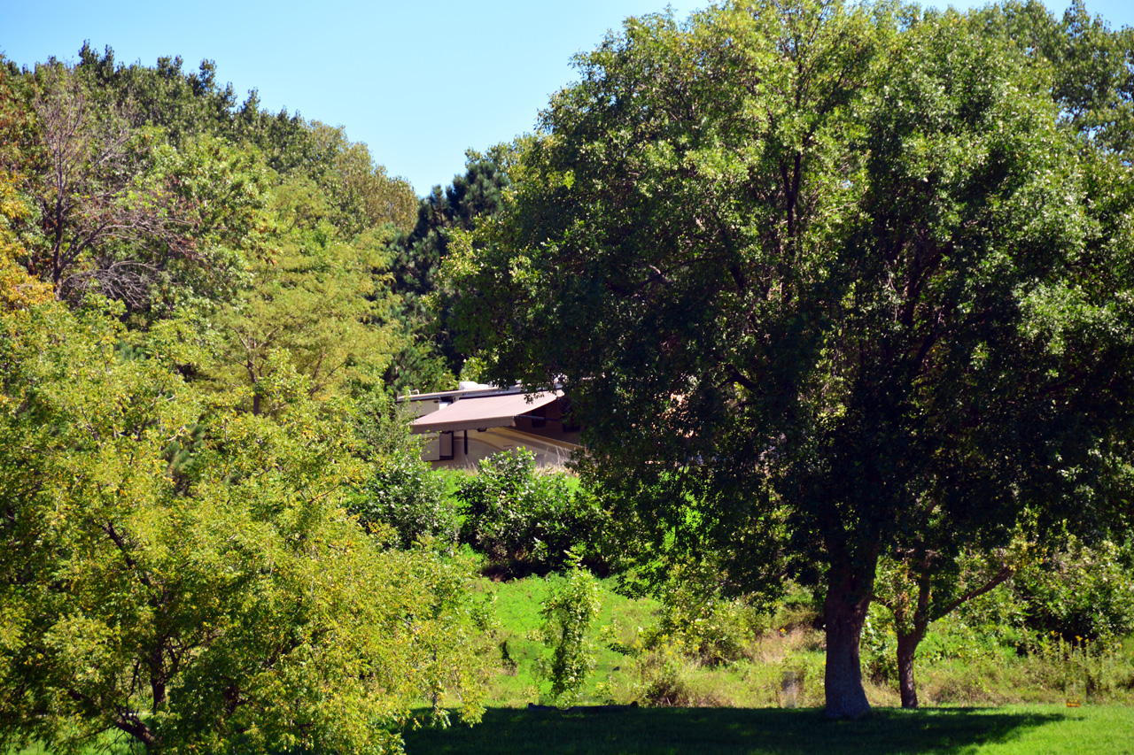
[[[823,699],[823,636],[811,626],[813,614],[798,605],[781,608],[758,619],[739,650],[727,663],[702,663],[689,656],[689,636],[659,631],[661,605],[652,599],[627,599],[602,583],[602,611],[595,622],[595,672],[584,702],[590,704],[640,702],[643,705],[779,707],[785,704],[785,673],[803,672],[797,697],[801,706],[820,706]],[[506,583],[488,579],[480,585],[491,596],[498,625],[494,642],[499,660],[490,679],[490,705],[522,707],[541,699],[533,675],[535,659],[548,651],[534,638],[540,603],[548,583],[530,577]],[[872,652],[864,643],[868,696],[872,705],[897,707],[896,681],[887,678],[888,650]],[[919,656],[916,676],[928,706],[983,706],[1064,704],[1077,696],[1088,704],[1134,702],[1134,641],[1122,648],[1083,658],[1067,655],[1057,643],[1021,654],[982,637],[959,619],[936,626],[934,641]],[[1134,718],[1134,710],[1129,711]]]

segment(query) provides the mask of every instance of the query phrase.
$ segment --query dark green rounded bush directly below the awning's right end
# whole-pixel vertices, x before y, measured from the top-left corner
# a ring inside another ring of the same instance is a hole
[[[545,574],[561,568],[574,550],[584,563],[601,568],[602,510],[585,491],[573,492],[567,475],[536,472],[526,450],[490,456],[479,469],[457,489],[462,541],[492,566]]]

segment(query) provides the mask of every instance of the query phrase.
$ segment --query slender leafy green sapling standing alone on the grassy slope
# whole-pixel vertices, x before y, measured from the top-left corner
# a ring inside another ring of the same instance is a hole
[[[540,616],[540,638],[551,650],[541,659],[540,676],[551,682],[550,697],[557,703],[575,702],[587,676],[594,671],[595,646],[591,625],[599,616],[599,580],[568,554],[566,574],[551,580]]]

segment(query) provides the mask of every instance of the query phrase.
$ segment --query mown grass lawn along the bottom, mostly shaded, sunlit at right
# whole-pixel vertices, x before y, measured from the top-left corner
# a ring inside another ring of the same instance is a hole
[[[816,709],[491,709],[474,727],[405,739],[408,755],[1134,755],[1134,707],[875,709],[858,721],[828,721]]]

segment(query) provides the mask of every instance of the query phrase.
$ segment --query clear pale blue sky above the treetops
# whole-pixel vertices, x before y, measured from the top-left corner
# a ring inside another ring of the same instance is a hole
[[[1066,0],[1069,2],[1069,0]],[[1046,0],[1061,12],[1065,2]],[[672,0],[684,18],[708,0]],[[943,6],[945,2],[928,5]],[[983,5],[955,0],[957,7]],[[665,0],[0,0],[0,52],[29,66],[73,61],[84,40],[121,62],[217,62],[243,100],[342,125],[418,194],[483,150],[534,128],[548,96],[575,78],[570,58],[627,16]],[[1086,0],[1112,26],[1134,26],[1134,0]]]

